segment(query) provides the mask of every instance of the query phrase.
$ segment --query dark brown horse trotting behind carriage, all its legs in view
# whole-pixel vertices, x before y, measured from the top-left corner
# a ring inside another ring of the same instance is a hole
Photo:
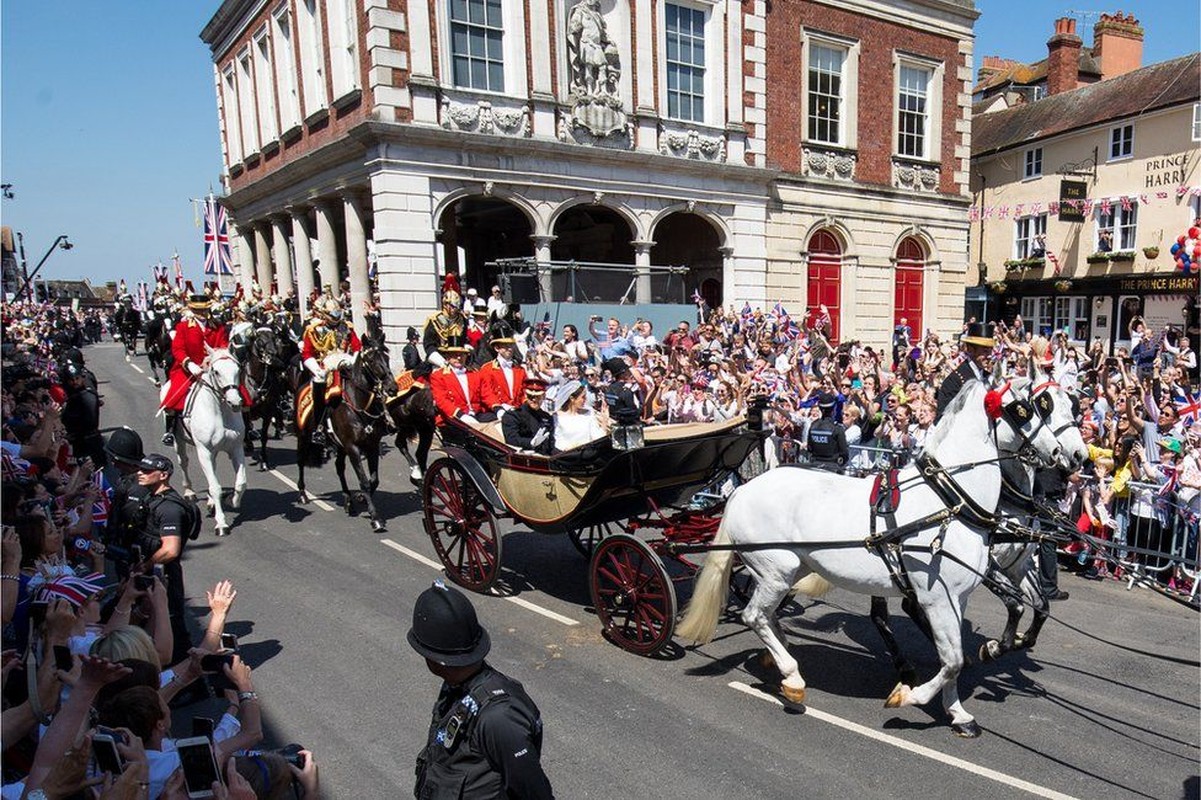
[[[376,511],[372,495],[380,485],[380,440],[388,428],[388,408],[384,402],[395,393],[395,382],[388,366],[388,348],[370,338],[349,366],[341,368],[341,400],[325,410],[333,428],[333,446],[337,479],[342,485],[342,508],[354,514],[354,494],[346,485],[346,459],[359,479],[359,495],[366,502],[371,530],[386,530]],[[312,416],[304,426],[297,428],[297,466],[300,470],[297,488],[300,502],[311,500],[305,489],[305,464],[312,458],[312,434],[316,420]],[[366,461],[364,468],[364,461]]]

